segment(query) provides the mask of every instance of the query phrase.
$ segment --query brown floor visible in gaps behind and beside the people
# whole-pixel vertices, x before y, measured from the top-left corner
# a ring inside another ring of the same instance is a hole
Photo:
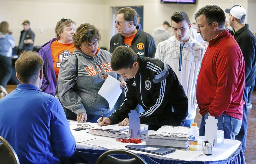
[[[14,90],[16,85],[7,85],[6,90],[10,93]],[[252,109],[248,110],[247,121],[248,121],[248,132],[247,132],[247,142],[245,159],[247,164],[256,164],[256,92],[252,95]],[[198,126],[200,125],[201,115],[197,111],[195,122]]]

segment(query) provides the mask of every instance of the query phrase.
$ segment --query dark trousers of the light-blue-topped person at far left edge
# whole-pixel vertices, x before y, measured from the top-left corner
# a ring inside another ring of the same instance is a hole
[[[6,85],[11,78],[12,62],[11,57],[0,55],[0,85],[6,88]]]

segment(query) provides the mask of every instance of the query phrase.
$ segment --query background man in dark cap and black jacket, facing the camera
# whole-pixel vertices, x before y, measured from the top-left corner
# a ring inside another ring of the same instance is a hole
[[[33,51],[35,40],[35,33],[30,29],[30,22],[28,20],[22,23],[24,30],[21,31],[19,52]]]

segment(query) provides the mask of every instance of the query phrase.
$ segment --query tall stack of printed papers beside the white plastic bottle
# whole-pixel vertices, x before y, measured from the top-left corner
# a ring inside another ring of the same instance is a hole
[[[188,149],[190,127],[162,126],[146,139],[147,145],[169,147],[173,149]]]

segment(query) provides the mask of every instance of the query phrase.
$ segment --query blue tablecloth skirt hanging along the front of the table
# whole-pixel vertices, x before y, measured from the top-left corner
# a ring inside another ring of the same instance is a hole
[[[80,149],[77,148],[74,155],[69,159],[70,161],[64,160],[66,163],[85,163],[94,164],[99,156],[106,152],[106,150],[93,150],[93,149]],[[113,155],[120,159],[130,159],[127,155],[115,154]],[[245,164],[245,156],[240,144],[236,153],[226,160],[220,161],[181,161],[181,160],[166,160],[155,157],[149,157],[145,154],[139,154],[149,164]],[[64,163],[65,163],[64,162]]]

